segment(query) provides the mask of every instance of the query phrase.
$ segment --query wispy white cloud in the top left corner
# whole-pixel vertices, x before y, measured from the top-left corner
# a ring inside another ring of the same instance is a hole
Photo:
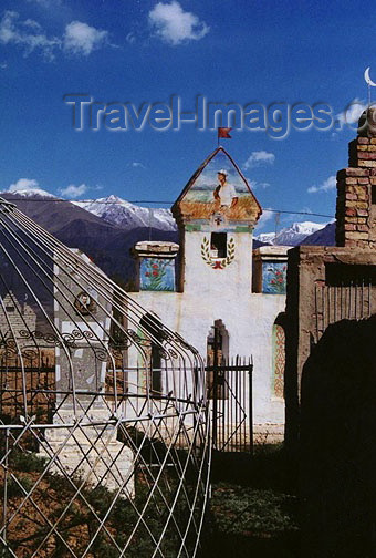
[[[23,55],[39,50],[46,60],[54,59],[54,50],[60,48],[61,40],[48,37],[33,20],[19,21],[19,14],[7,10],[0,21],[0,43],[17,44],[23,50]]]

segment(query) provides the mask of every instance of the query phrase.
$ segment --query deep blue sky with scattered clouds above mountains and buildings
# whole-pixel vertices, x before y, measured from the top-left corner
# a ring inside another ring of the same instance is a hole
[[[338,115],[353,100],[366,100],[365,68],[376,80],[373,8],[367,1],[361,9],[352,1],[3,0],[0,189],[38,184],[66,198],[174,200],[217,146],[216,131],[184,123],[175,131],[79,132],[64,95],[136,106],[179,95],[185,111],[194,111],[197,95],[242,106],[325,103]],[[347,165],[354,130],[292,130],[282,140],[263,131],[231,135],[222,145],[262,207],[334,215],[333,176]],[[293,220],[328,219],[281,218],[283,226]],[[263,220],[263,231],[273,228]]]

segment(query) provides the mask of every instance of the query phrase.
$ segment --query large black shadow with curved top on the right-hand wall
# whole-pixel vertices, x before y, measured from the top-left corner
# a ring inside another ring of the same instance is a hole
[[[306,558],[376,556],[376,316],[330,326],[302,376]]]

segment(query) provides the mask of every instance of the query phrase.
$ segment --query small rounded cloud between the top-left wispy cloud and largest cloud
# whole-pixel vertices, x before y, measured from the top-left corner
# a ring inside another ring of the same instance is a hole
[[[71,21],[65,28],[64,50],[87,56],[108,42],[108,31],[95,29],[82,21]]]

